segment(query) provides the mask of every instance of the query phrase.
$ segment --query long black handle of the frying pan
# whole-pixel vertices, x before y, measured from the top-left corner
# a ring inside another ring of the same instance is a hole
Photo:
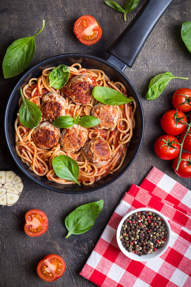
[[[151,31],[173,0],[147,0],[127,28],[107,49],[132,68]]]

